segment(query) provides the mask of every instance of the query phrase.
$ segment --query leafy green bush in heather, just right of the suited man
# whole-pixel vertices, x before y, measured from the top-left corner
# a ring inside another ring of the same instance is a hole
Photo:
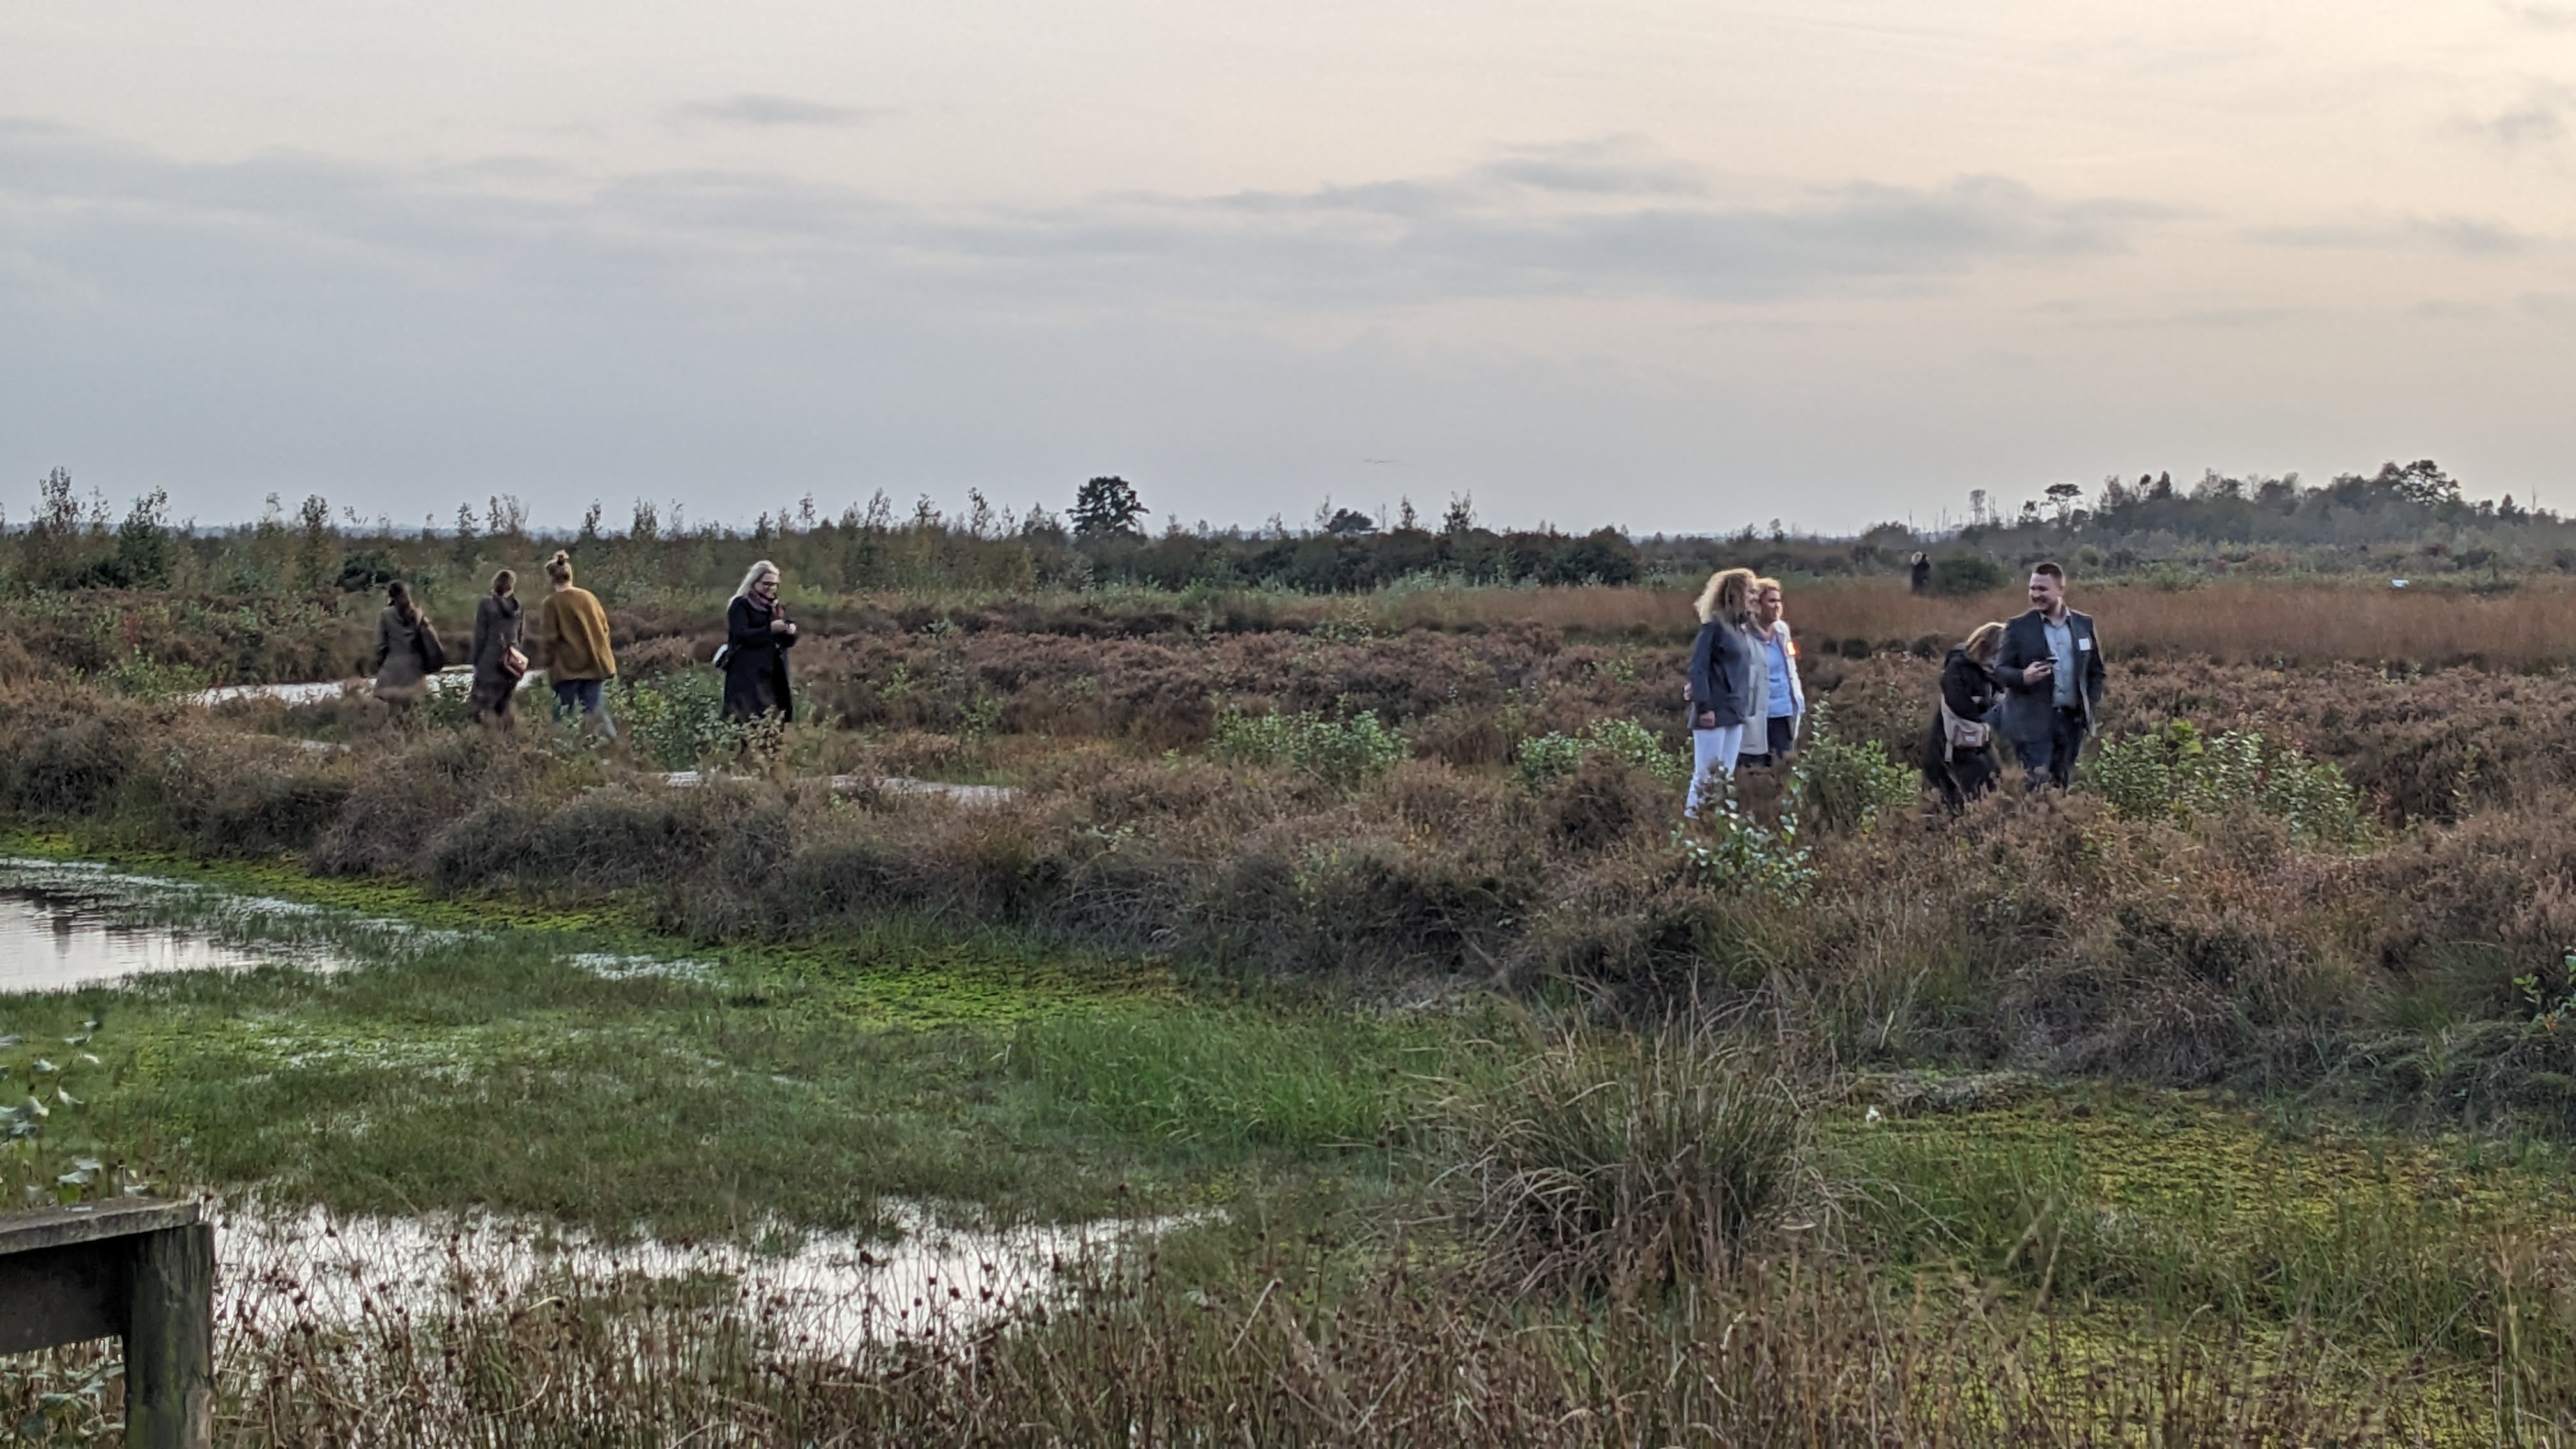
[[[2360,846],[2367,835],[2342,768],[2251,730],[2202,735],[2190,719],[2174,719],[2148,735],[2107,740],[2084,779],[2125,820],[2190,825],[2246,807],[2318,846]]]

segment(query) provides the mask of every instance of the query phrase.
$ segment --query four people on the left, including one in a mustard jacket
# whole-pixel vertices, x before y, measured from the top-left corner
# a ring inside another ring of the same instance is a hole
[[[526,606],[518,601],[518,575],[500,570],[492,575],[492,593],[474,603],[474,683],[466,694],[466,714],[495,730],[518,724],[518,686],[531,668],[544,665],[554,688],[554,717],[580,717],[587,727],[616,740],[616,722],[608,717],[608,681],[618,673],[618,655],[608,639],[608,608],[587,588],[572,583],[572,554],[556,549],[546,559],[546,598],[536,608],[536,637],[526,629]],[[793,719],[788,691],[788,650],[796,645],[796,621],[778,601],[778,565],[760,559],[742,575],[732,603],[724,611],[724,647],[716,650],[716,668],[724,670],[724,717],[752,722],[762,714]],[[533,655],[531,655],[533,647]],[[412,598],[412,588],[399,578],[386,585],[384,614],[376,616],[376,699],[394,706],[417,704],[430,691],[430,676],[448,663],[438,629]]]

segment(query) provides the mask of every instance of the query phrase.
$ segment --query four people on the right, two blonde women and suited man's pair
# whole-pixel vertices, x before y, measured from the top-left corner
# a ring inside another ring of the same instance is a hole
[[[1752,570],[1708,575],[1700,637],[1690,647],[1692,773],[1685,817],[1739,766],[1767,766],[1798,748],[1806,686],[1798,645],[1780,616],[1780,580]],[[1950,807],[2002,776],[1996,740],[2012,748],[2030,786],[2066,789],[2102,709],[2102,647],[2094,621],[2066,606],[2066,570],[2030,570],[2030,611],[1978,624],[1940,670],[1940,706],[1924,735],[1924,784]],[[1759,743],[1759,750],[1749,750]]]

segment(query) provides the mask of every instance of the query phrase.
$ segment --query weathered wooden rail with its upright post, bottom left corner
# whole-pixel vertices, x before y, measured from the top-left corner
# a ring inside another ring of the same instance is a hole
[[[214,1439],[214,1225],[193,1201],[0,1214],[0,1354],[124,1338],[126,1444]]]

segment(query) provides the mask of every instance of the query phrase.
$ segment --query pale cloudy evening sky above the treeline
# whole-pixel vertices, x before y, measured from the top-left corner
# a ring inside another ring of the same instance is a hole
[[[2576,3],[0,0],[0,508],[2576,511]]]

